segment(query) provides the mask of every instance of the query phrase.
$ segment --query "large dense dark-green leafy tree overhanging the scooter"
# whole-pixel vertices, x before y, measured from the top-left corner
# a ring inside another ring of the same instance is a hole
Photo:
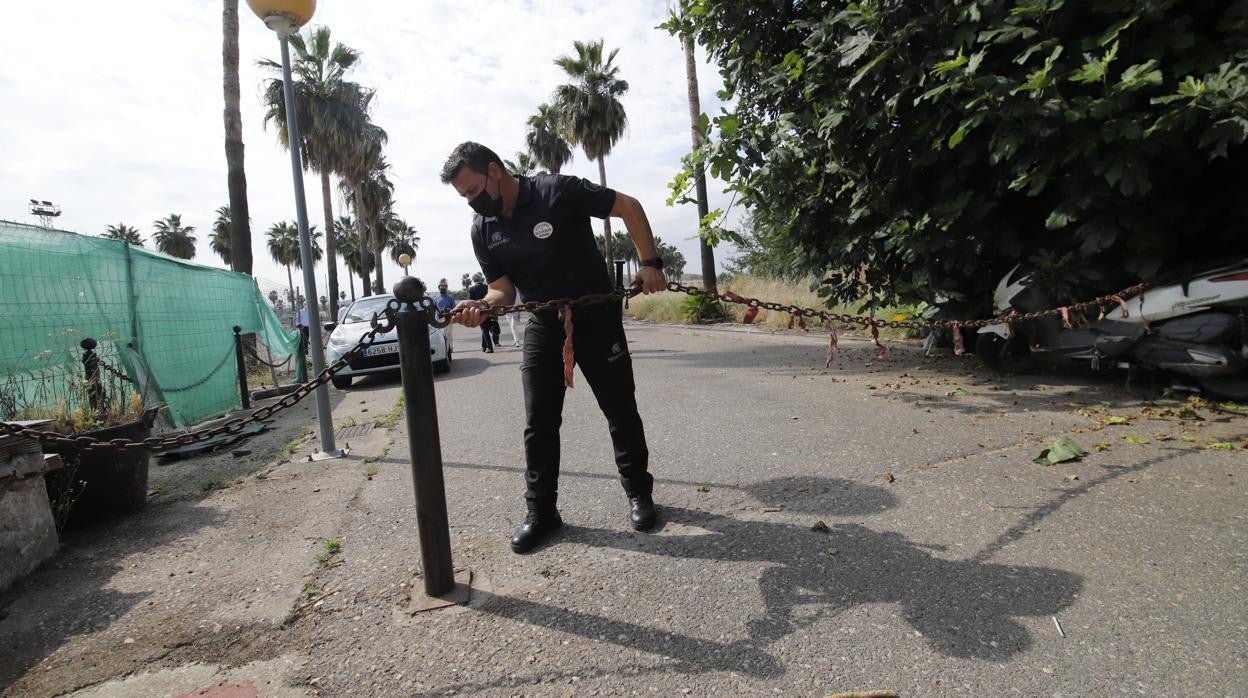
[[[1242,1],[680,7],[733,96],[698,157],[830,301],[982,315],[1020,262],[1070,301],[1248,253]]]

